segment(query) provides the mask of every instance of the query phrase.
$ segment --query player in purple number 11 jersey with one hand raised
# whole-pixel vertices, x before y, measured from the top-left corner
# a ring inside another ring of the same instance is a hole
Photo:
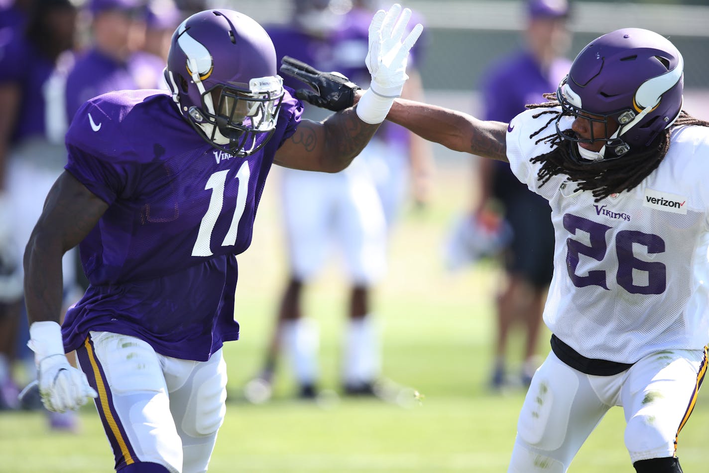
[[[322,122],[301,119],[264,29],[225,9],[174,32],[170,92],[109,92],[77,111],[26,249],[29,345],[48,409],[96,398],[117,470],[206,471],[225,414],[222,346],[239,335],[235,255],[269,169],[350,164],[406,82],[421,31],[404,35],[410,16],[398,4],[374,15],[372,85],[354,108],[349,81],[320,85],[345,108]],[[77,244],[90,286],[60,327],[60,261]]]

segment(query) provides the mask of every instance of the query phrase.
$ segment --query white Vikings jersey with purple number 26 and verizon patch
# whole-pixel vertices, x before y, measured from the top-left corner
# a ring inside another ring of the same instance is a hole
[[[549,200],[556,232],[554,278],[544,320],[584,357],[634,363],[666,349],[709,342],[709,129],[680,126],[659,167],[634,189],[595,202],[556,175],[540,187],[550,151],[530,138],[549,120],[516,116],[507,156],[517,178]],[[564,118],[562,129],[571,128]],[[565,125],[565,126],[564,126]],[[564,261],[566,264],[564,264]]]

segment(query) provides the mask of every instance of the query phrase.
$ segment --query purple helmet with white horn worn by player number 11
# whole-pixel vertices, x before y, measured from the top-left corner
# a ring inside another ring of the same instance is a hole
[[[272,136],[283,80],[271,38],[252,18],[207,10],[172,35],[165,80],[180,113],[215,148],[249,156]]]

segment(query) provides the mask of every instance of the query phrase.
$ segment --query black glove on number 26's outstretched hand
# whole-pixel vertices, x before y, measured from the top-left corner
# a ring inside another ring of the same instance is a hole
[[[315,91],[298,89],[298,99],[333,112],[352,107],[354,92],[361,88],[339,72],[322,72],[289,56],[281,60],[281,72],[305,82]]]

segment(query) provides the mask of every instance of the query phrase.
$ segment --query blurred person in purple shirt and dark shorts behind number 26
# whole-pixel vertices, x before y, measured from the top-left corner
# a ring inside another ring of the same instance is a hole
[[[508,122],[525,104],[545,102],[569,72],[571,43],[566,0],[527,0],[523,47],[496,61],[482,76],[483,119]],[[524,330],[520,382],[528,386],[540,360],[537,341],[554,269],[554,228],[549,204],[515,178],[506,163],[479,160],[480,199],[471,221],[490,220],[502,207],[512,235],[503,251],[505,281],[496,298],[497,337],[490,384],[508,384],[508,341],[514,325]],[[515,383],[517,384],[517,383]]]

